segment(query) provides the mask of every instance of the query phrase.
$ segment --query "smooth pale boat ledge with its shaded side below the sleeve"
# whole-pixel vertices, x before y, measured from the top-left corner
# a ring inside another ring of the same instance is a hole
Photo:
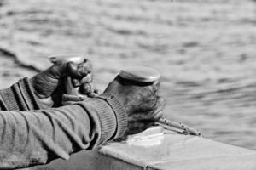
[[[109,143],[98,151],[82,151],[68,161],[53,161],[38,169],[256,169],[255,150],[172,131],[154,132],[159,135]]]

